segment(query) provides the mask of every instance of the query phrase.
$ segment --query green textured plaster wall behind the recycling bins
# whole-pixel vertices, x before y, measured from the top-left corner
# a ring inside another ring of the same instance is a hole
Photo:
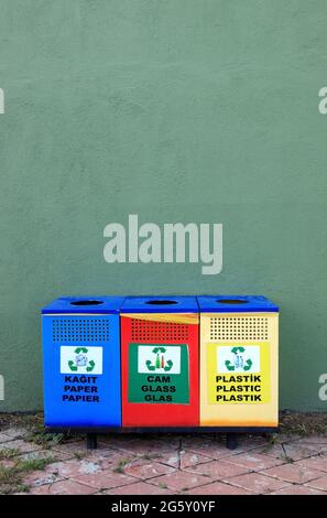
[[[0,410],[42,408],[61,294],[263,293],[281,406],[326,409],[324,0],[0,0]],[[224,270],[108,265],[103,227],[222,223]]]

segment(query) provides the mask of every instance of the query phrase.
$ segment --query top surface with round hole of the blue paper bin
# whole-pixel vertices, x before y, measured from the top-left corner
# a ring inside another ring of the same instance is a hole
[[[124,296],[61,296],[43,307],[42,313],[119,313],[123,300]]]

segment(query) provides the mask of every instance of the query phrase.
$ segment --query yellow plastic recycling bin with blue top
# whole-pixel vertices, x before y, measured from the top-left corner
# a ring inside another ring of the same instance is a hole
[[[200,427],[279,424],[279,307],[261,295],[198,296]]]

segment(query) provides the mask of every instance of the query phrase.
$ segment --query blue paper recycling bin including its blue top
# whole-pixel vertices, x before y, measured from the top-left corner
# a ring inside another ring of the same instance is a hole
[[[42,310],[48,428],[121,425],[120,296],[63,296]]]

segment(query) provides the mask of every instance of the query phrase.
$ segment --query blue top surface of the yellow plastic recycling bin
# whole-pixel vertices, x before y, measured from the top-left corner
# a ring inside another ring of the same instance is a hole
[[[247,313],[277,312],[279,306],[263,295],[203,295],[197,298],[201,312]]]

